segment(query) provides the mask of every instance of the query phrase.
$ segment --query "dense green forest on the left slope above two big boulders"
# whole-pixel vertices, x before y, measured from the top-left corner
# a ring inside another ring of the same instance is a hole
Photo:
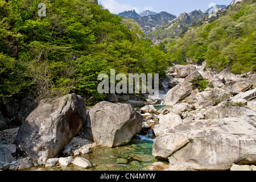
[[[46,16],[39,16],[39,3]],[[93,0],[0,0],[0,97],[102,99],[100,73],[159,73],[167,56]]]

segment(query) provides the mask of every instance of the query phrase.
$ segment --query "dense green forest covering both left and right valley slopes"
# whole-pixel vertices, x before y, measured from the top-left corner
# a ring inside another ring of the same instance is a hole
[[[46,16],[39,16],[39,3]],[[0,98],[42,98],[97,92],[100,73],[159,73],[169,63],[207,61],[221,71],[256,71],[256,4],[229,6],[210,23],[194,23],[152,46],[133,19],[94,0],[0,0]]]

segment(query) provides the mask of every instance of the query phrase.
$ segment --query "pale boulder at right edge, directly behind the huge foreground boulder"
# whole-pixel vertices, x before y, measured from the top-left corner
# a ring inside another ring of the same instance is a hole
[[[245,106],[233,106],[230,102],[221,102],[210,107],[205,115],[206,119],[241,118],[256,127],[256,111]]]

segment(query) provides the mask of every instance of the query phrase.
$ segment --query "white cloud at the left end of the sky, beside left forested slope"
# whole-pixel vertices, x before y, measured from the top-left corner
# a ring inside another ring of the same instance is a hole
[[[129,11],[129,10],[135,10],[138,14],[142,13],[142,10],[140,10],[137,7],[133,7],[127,3],[121,4],[115,0],[103,0],[101,3],[105,7],[105,9],[108,9],[111,13],[114,13],[114,14],[118,14],[123,11]]]

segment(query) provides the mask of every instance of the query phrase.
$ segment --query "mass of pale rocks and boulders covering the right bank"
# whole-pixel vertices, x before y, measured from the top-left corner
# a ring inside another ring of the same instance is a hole
[[[234,75],[230,69],[216,74],[203,64],[175,65],[169,76],[183,80],[164,97],[172,109],[163,109],[152,127],[155,158],[197,170],[255,164],[256,75]],[[209,81],[203,92],[190,82],[199,76]]]

